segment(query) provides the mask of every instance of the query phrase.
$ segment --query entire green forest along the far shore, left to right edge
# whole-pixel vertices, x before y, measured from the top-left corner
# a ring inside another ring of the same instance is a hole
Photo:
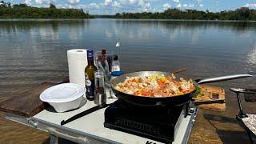
[[[58,9],[54,4],[48,8],[0,2],[0,18],[127,18],[127,19],[191,19],[191,20],[256,20],[256,10],[241,7],[237,10],[210,12],[208,10],[168,9],[163,12],[117,13],[114,15],[90,15],[82,9]]]

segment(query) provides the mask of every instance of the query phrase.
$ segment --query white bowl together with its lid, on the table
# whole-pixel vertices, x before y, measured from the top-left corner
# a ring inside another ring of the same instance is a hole
[[[77,109],[86,89],[78,84],[63,83],[52,86],[40,94],[42,102],[48,102],[57,112]]]

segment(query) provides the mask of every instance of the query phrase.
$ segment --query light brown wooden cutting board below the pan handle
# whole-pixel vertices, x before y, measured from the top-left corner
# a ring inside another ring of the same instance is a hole
[[[199,85],[199,88],[201,89],[201,92],[193,98],[195,102],[225,100],[225,90],[222,87]],[[225,103],[203,104],[198,107],[206,110],[226,110]]]

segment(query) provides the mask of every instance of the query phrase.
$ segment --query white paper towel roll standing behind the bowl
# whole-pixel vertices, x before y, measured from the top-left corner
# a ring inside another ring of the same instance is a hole
[[[70,83],[85,87],[85,68],[87,66],[87,52],[85,49],[67,50]]]

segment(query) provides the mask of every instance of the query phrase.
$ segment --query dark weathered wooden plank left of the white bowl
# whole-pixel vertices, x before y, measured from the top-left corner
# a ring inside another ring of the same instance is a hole
[[[56,83],[43,82],[40,86],[34,86],[30,90],[15,94],[14,97],[0,102],[0,110],[25,117],[38,114],[48,106],[48,104],[40,100],[39,95],[43,90],[54,85],[56,85]]]

